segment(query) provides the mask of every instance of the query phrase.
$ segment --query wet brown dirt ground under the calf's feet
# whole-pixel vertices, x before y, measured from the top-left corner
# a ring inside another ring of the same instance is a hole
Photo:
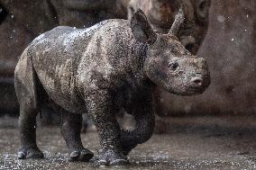
[[[17,120],[0,118],[0,169],[256,169],[256,118],[191,117],[169,119],[168,134],[154,134],[130,154],[129,166],[96,166],[100,150],[95,130],[82,135],[95,153],[90,163],[71,163],[58,128],[39,128],[41,160],[18,160]]]

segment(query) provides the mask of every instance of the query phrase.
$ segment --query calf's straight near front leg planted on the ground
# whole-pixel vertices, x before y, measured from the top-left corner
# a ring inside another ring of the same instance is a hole
[[[112,100],[112,94],[108,91],[96,91],[86,95],[87,110],[91,116],[100,138],[102,152],[99,165],[125,165],[127,157],[121,150],[120,127],[115,119],[116,109]]]

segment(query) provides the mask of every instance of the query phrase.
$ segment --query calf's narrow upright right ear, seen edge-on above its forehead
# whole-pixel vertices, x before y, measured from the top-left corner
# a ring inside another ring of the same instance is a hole
[[[169,30],[169,33],[177,36],[180,26],[183,24],[184,20],[185,20],[184,12],[182,9],[179,9],[178,13],[175,16],[175,20],[172,23],[172,26]]]

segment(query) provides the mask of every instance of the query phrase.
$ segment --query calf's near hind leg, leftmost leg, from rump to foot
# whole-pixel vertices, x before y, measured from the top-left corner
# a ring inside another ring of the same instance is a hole
[[[18,158],[43,158],[36,145],[36,116],[39,112],[38,85],[40,84],[32,67],[32,58],[23,52],[14,74],[15,91],[20,103],[20,139]]]

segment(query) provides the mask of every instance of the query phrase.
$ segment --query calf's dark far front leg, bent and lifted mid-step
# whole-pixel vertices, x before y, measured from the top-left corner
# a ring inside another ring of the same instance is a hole
[[[121,141],[123,155],[128,155],[130,151],[138,144],[142,144],[151,139],[154,126],[155,115],[151,104],[141,103],[133,110],[133,116],[136,121],[135,130],[122,130]]]

